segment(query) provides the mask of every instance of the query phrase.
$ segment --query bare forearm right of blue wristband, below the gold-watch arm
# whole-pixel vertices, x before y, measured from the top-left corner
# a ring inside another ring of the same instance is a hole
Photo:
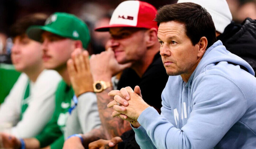
[[[83,137],[83,146],[85,148],[88,148],[89,143],[93,141],[97,141],[99,139],[106,140],[102,126],[100,128],[93,129],[88,133],[81,134],[81,136]]]

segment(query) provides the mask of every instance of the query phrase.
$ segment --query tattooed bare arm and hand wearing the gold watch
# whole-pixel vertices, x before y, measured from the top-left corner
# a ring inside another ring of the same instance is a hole
[[[130,65],[131,64],[118,64],[111,48],[98,55],[92,55],[90,59],[90,68],[94,82],[99,80],[110,82],[113,75],[123,71]],[[102,128],[106,134],[107,140],[121,136],[121,134],[131,129],[129,122],[111,116],[113,110],[107,108],[108,103],[113,101],[113,97],[108,96],[108,92],[111,90],[113,90],[113,87],[96,93],[99,117],[101,118]]]

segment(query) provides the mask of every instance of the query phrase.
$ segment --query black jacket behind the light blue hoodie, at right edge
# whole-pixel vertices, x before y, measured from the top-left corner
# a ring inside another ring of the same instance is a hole
[[[256,73],[256,20],[246,18],[242,24],[232,21],[217,39],[228,51],[247,61]]]

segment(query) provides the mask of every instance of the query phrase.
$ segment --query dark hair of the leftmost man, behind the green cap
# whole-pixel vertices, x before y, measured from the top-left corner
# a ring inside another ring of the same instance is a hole
[[[22,36],[26,34],[27,28],[31,25],[44,25],[48,15],[44,13],[34,13],[17,20],[11,27],[11,36]]]

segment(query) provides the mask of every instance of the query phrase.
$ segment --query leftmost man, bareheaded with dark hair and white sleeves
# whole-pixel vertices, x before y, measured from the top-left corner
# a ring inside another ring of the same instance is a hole
[[[14,37],[11,58],[22,74],[0,106],[0,127],[15,137],[35,137],[54,112],[55,92],[61,77],[56,71],[44,69],[42,44],[26,34],[30,25],[43,25],[46,18],[45,14],[36,13],[11,27]]]

